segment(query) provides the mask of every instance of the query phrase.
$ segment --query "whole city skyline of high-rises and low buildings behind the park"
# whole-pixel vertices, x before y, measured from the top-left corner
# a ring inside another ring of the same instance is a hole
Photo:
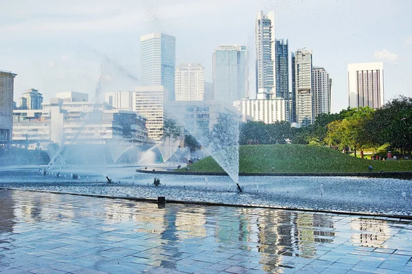
[[[12,101],[16,74],[1,71],[0,140],[10,140],[13,135],[16,141],[27,141],[32,135],[36,141],[41,137],[36,126],[48,126],[49,129],[43,128],[43,139],[70,142],[70,121],[95,119],[96,112],[104,117],[100,120],[104,126],[91,123],[93,126],[84,126],[81,132],[96,141],[123,136],[131,143],[160,141],[161,128],[167,118],[183,121],[191,132],[196,130],[196,125],[211,127],[222,111],[237,113],[243,121],[288,121],[297,126],[312,124],[320,113],[330,113],[332,78],[323,67],[314,67],[310,49],[297,49],[289,58],[288,39],[275,38],[274,12],[261,11],[256,17],[255,52],[255,90],[251,92],[247,46],[217,47],[212,54],[213,83],[207,83],[201,64],[176,66],[174,36],[141,36],[141,87],[106,93],[103,104],[91,104],[86,95],[74,92],[58,93],[45,104],[38,90],[29,89],[21,96],[17,108]],[[375,109],[382,106],[382,63],[350,64],[347,71],[348,105]],[[54,119],[52,113],[59,118]],[[128,115],[134,116],[123,118]],[[112,126],[103,122],[109,116]],[[123,119],[134,121],[136,128],[119,122]],[[63,126],[57,126],[54,120],[64,121]],[[55,126],[59,128],[58,133]]]

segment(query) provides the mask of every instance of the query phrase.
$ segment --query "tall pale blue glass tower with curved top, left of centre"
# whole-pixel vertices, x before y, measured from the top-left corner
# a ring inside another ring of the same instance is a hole
[[[141,84],[163,86],[168,89],[168,100],[174,100],[176,39],[162,33],[140,37]]]

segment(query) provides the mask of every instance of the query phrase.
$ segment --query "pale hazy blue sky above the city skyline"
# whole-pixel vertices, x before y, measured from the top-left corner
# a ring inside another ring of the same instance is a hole
[[[260,10],[275,10],[275,38],[288,38],[290,52],[312,49],[330,73],[332,113],[347,108],[352,62],[383,62],[385,101],[412,96],[409,0],[0,0],[0,69],[17,73],[16,102],[31,88],[45,102],[64,91],[101,102],[139,86],[139,38],[163,32],[176,37],[176,64],[201,63],[207,82],[214,49],[247,45],[253,96]]]

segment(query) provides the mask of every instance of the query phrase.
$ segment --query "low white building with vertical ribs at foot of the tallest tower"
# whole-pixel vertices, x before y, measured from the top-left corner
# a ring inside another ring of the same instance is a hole
[[[274,122],[288,121],[288,100],[275,99],[244,99],[233,102],[233,105],[242,113],[242,117],[250,115],[255,121],[273,124]]]

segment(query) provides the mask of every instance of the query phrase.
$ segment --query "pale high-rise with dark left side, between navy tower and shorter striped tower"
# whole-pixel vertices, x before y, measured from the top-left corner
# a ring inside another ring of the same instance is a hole
[[[297,49],[292,53],[293,116],[297,124],[307,126],[313,122],[312,113],[312,51]]]

